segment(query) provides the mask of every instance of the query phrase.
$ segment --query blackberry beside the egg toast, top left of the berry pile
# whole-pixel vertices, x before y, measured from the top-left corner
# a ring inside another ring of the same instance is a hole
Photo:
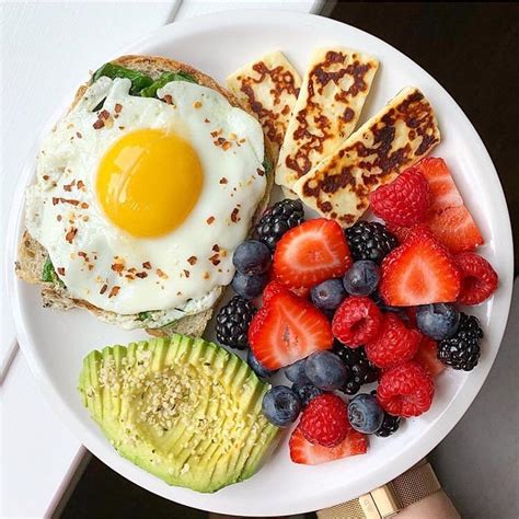
[[[269,207],[256,224],[257,238],[274,251],[280,238],[292,227],[304,220],[304,209],[301,200],[289,198],[277,201]]]

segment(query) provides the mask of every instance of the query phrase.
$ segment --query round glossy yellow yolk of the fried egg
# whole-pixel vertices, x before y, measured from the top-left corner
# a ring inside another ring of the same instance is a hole
[[[152,238],[184,222],[201,185],[201,164],[187,141],[141,129],[118,139],[102,158],[96,193],[113,223],[134,237]]]

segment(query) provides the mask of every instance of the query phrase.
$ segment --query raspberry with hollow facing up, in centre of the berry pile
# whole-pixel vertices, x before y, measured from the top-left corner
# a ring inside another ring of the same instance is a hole
[[[368,297],[353,296],[345,299],[332,321],[332,332],[350,348],[373,341],[382,323],[382,312]]]

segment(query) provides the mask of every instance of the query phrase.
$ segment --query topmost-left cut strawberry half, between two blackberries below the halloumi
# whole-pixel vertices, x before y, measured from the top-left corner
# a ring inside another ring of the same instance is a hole
[[[287,287],[313,287],[341,277],[351,266],[343,229],[333,220],[318,218],[290,229],[274,253],[274,274]]]

